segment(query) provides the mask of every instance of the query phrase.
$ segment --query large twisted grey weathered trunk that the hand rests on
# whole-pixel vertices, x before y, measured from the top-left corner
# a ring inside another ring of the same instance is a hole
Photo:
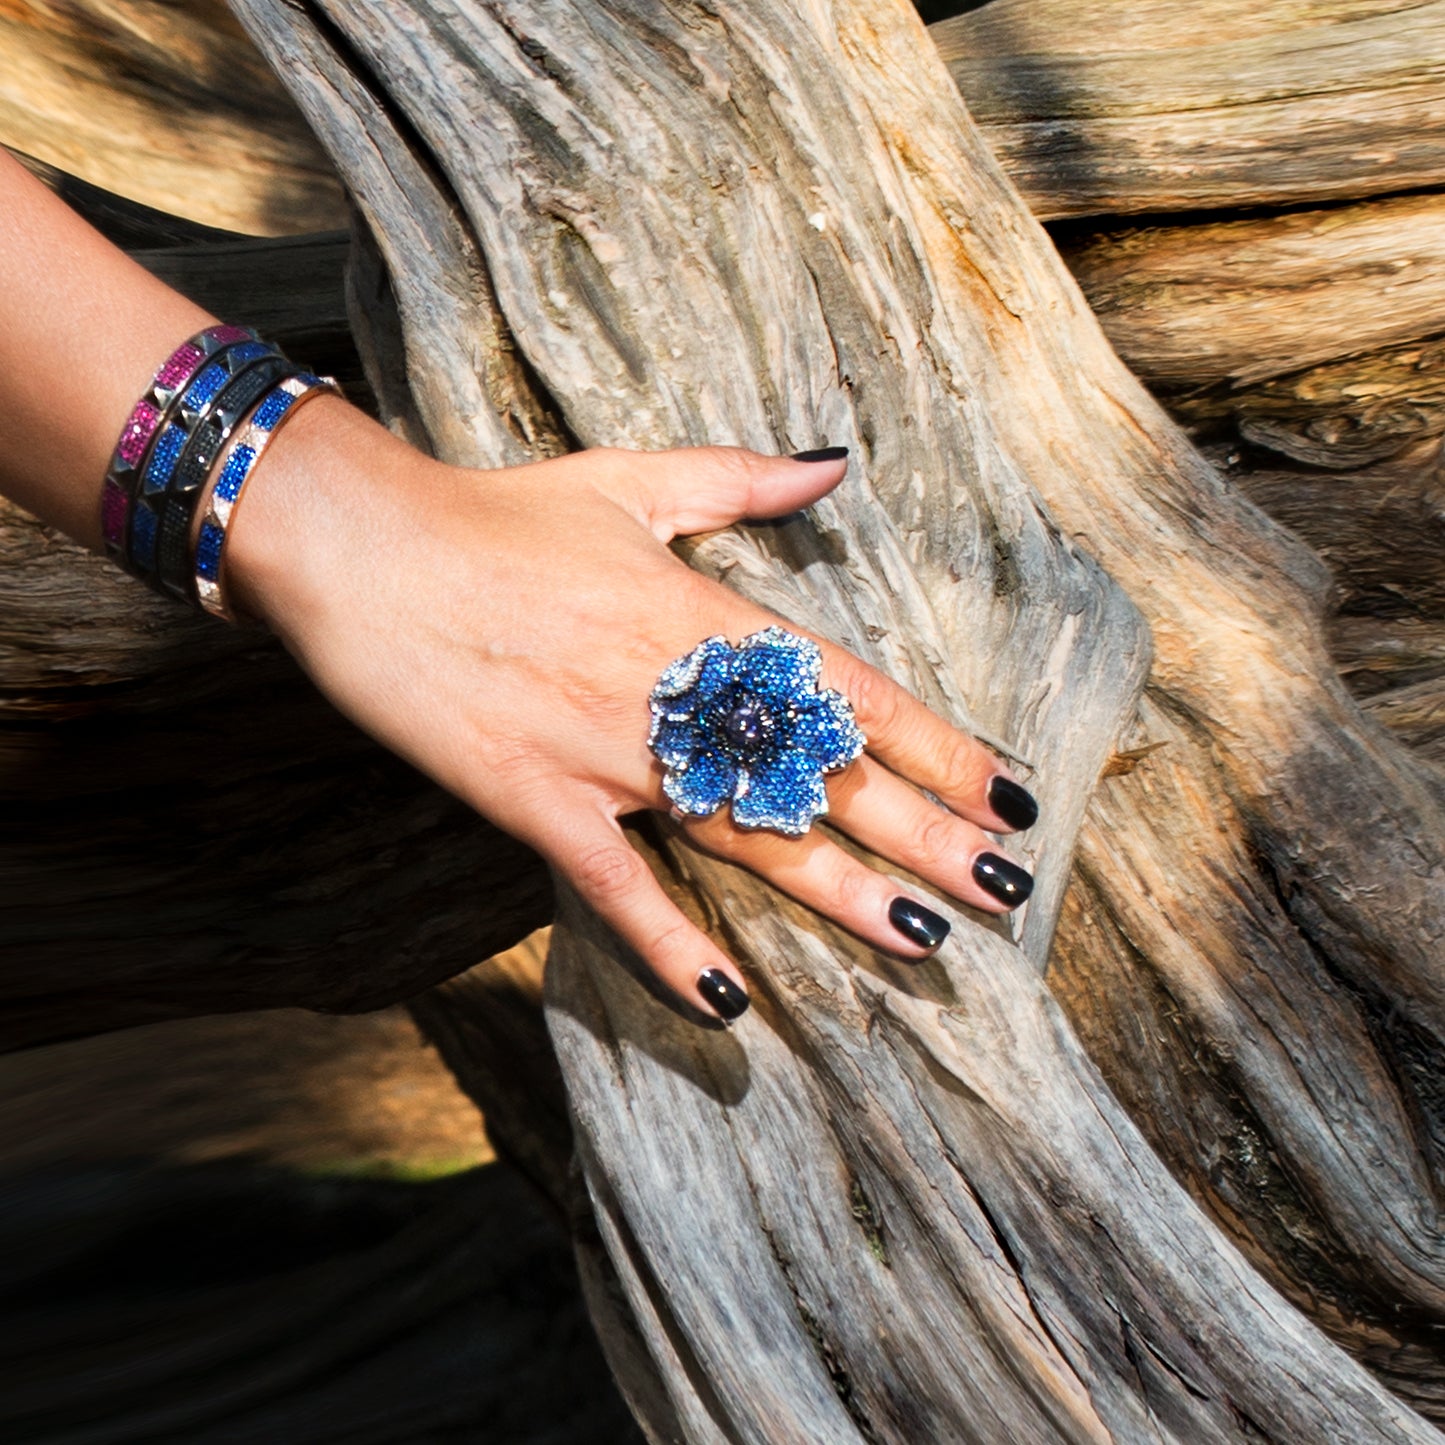
[[[854,444],[811,520],[692,559],[1043,801],[1026,916],[957,915],[918,971],[663,829],[754,978],[730,1033],[564,897],[592,1303],[653,1436],[1436,1439],[1302,1311],[1433,1409],[1439,776],[1345,695],[1318,562],[1118,364],[916,19],[237,10],[390,275],[383,406],[471,462]]]

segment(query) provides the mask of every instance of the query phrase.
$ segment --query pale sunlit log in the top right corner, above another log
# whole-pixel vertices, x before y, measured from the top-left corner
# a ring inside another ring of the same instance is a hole
[[[991,0],[931,33],[1045,220],[1445,179],[1438,0]]]

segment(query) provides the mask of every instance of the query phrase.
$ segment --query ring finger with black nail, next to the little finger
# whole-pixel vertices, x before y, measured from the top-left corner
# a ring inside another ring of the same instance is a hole
[[[741,864],[789,897],[841,923],[874,948],[920,961],[948,938],[949,922],[922,899],[845,853],[821,832],[785,838],[734,827],[725,814],[689,819],[692,845]]]

